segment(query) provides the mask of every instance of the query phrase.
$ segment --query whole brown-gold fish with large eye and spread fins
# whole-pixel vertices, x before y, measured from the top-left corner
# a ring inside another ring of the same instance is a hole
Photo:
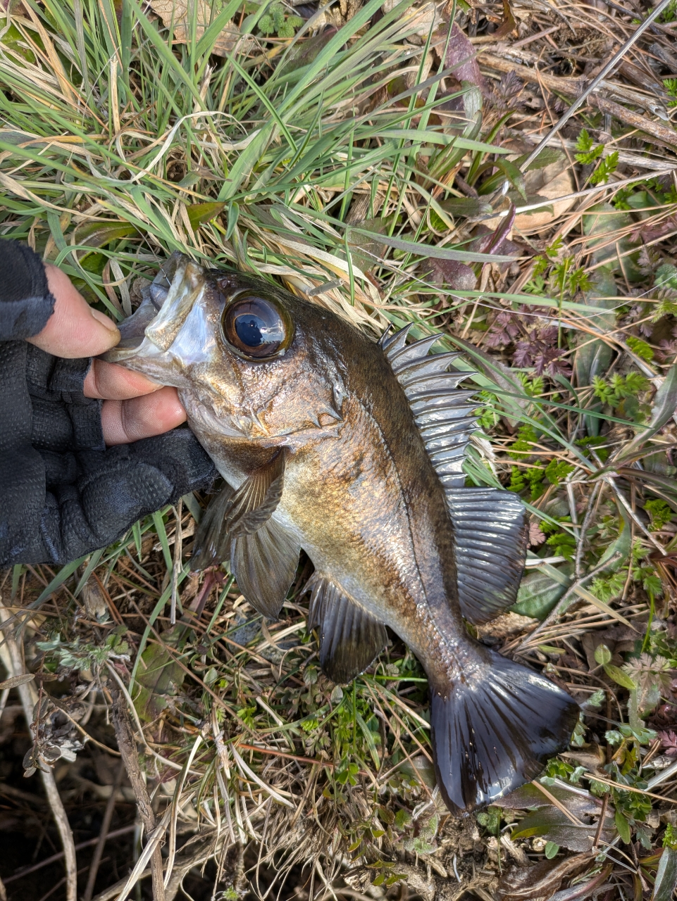
[[[308,626],[326,676],[347,684],[389,642],[423,665],[435,775],[455,815],[535,778],[578,721],[572,697],[478,642],[470,625],[515,603],[526,558],[519,497],[465,487],[476,431],[467,371],[436,335],[373,341],[261,278],[175,253],[105,359],[175,386],[224,487],[193,569],[229,560],[276,619],[303,549]]]

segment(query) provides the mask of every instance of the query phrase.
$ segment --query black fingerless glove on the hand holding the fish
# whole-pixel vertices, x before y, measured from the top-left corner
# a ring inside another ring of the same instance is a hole
[[[82,390],[91,359],[23,340],[53,307],[41,260],[0,241],[0,567],[75,560],[216,477],[186,427],[105,449],[101,402]]]

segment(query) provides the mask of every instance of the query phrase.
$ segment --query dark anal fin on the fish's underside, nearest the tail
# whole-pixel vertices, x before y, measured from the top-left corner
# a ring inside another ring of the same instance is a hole
[[[320,638],[320,666],[340,684],[352,681],[370,665],[388,642],[383,623],[366,613],[328,578],[315,575],[308,626]]]

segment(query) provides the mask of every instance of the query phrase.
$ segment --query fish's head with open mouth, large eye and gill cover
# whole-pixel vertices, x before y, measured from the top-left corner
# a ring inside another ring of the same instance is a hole
[[[263,279],[174,254],[104,359],[177,387],[198,436],[294,448],[341,428],[346,328]]]

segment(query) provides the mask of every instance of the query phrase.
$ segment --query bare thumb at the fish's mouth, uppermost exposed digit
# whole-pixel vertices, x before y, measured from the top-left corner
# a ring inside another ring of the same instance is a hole
[[[113,320],[92,309],[65,272],[50,263],[45,271],[55,300],[54,312],[42,331],[28,341],[66,359],[96,357],[114,347],[120,332]]]

